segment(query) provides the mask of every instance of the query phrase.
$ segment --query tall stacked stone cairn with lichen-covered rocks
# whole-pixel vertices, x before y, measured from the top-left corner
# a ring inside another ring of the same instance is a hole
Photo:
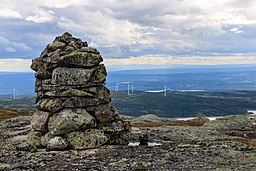
[[[56,37],[32,61],[37,110],[28,145],[79,150],[127,143],[130,124],[110,104],[102,61],[96,49],[69,33]]]

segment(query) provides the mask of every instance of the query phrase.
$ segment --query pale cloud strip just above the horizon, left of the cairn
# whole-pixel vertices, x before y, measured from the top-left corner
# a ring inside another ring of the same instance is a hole
[[[0,72],[31,72],[31,59],[0,59]]]

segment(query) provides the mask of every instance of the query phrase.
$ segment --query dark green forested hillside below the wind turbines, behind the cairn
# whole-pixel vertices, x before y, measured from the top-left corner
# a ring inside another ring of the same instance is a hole
[[[147,93],[111,92],[112,104],[121,114],[139,116],[157,114],[163,117],[223,116],[244,114],[256,109],[256,92],[177,92]],[[35,109],[34,97],[0,99],[0,107]]]

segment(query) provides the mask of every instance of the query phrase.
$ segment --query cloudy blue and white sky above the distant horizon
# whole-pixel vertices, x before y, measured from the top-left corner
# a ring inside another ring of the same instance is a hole
[[[255,0],[0,0],[0,72],[68,31],[108,68],[256,64]]]

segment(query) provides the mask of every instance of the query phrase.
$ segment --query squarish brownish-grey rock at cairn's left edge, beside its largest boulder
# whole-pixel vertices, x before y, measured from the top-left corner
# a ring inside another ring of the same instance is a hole
[[[36,131],[47,131],[49,116],[49,112],[35,111],[31,119],[32,128]]]

